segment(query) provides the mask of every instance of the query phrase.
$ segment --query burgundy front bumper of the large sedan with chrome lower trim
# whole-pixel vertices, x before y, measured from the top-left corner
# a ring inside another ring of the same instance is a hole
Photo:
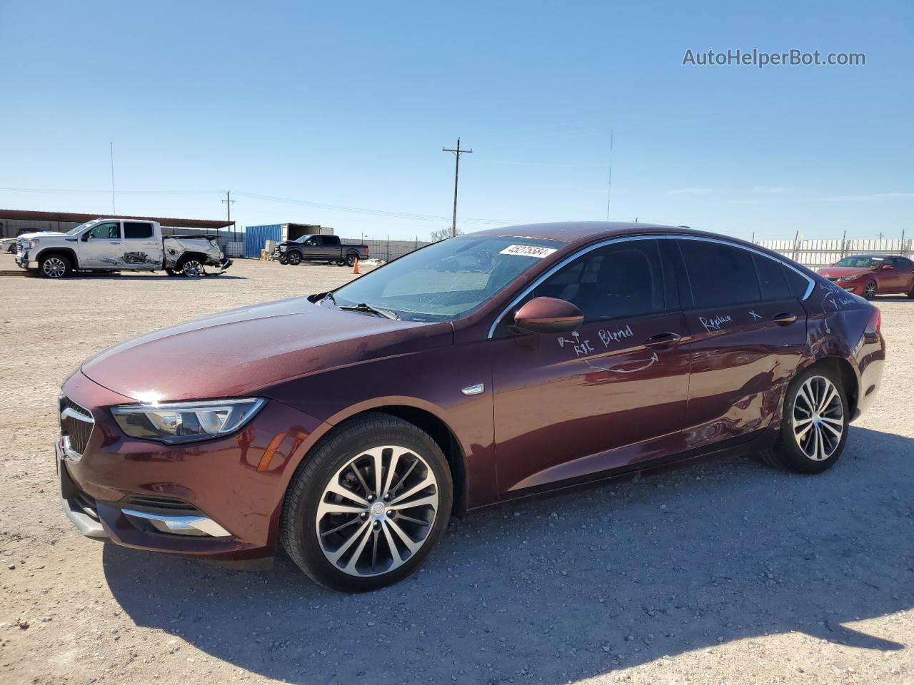
[[[81,457],[55,446],[63,510],[82,534],[224,560],[275,553],[285,490],[321,422],[271,401],[236,435],[168,446],[123,435],[107,407],[132,400],[85,375],[63,393],[95,419]]]

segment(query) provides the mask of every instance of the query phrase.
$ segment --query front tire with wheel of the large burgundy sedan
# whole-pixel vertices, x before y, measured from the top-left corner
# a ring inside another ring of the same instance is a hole
[[[383,492],[375,497],[385,489],[394,493],[387,503]],[[404,494],[407,505],[425,503],[395,507]],[[295,470],[282,504],[280,540],[315,583],[341,592],[376,590],[403,580],[425,560],[447,527],[452,498],[451,469],[437,443],[407,421],[370,413],[332,430]],[[352,513],[326,511],[338,503],[352,505]]]

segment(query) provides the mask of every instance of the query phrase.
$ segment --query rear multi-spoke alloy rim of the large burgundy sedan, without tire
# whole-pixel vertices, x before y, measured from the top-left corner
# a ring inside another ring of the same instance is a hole
[[[845,431],[845,406],[834,383],[821,375],[807,378],[793,400],[792,419],[793,437],[806,457],[831,457]]]

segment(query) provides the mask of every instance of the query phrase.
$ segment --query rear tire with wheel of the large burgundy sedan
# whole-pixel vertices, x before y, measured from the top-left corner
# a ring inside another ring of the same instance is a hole
[[[817,406],[820,412],[815,411]],[[813,365],[787,387],[778,440],[762,458],[770,466],[796,473],[822,473],[844,452],[849,427],[850,409],[840,377],[831,368]]]

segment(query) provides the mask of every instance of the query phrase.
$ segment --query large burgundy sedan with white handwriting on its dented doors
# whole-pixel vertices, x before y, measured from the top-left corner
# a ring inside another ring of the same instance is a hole
[[[332,292],[150,333],[63,385],[81,532],[322,585],[412,573],[452,514],[732,451],[818,473],[876,394],[879,311],[735,238],[498,228]]]

